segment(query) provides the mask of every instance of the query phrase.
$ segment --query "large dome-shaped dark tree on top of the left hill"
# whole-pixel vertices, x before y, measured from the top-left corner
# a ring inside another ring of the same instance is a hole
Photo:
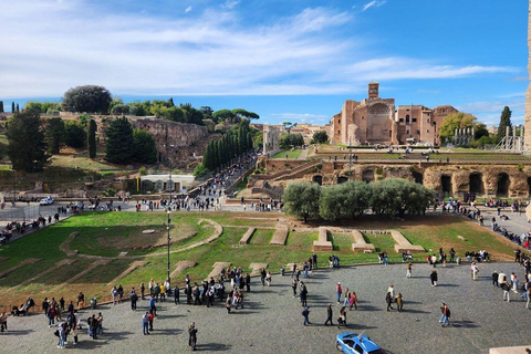
[[[62,100],[66,112],[88,112],[106,114],[113,98],[111,92],[103,86],[85,85],[70,88]]]

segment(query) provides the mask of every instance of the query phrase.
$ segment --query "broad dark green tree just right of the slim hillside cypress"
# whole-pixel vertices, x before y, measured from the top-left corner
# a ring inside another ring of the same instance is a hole
[[[127,118],[108,123],[105,138],[106,159],[113,164],[129,164],[134,156],[133,126]]]

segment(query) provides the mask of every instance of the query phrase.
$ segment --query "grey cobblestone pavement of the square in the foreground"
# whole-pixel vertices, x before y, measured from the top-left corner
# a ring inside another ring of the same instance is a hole
[[[67,352],[83,353],[184,353],[188,347],[187,325],[195,321],[198,351],[208,353],[334,353],[335,335],[344,331],[365,331],[388,353],[488,353],[489,347],[531,345],[531,310],[511,292],[511,302],[502,301],[502,292],[491,285],[493,270],[507,274],[522,268],[516,263],[479,264],[478,281],[470,278],[468,264],[437,268],[438,287],[430,287],[433,268],[415,264],[413,278],[406,279],[404,264],[358,266],[341,270],[323,269],[305,280],[309,289],[310,321],[302,325],[299,299],[293,299],[289,275],[273,275],[271,288],[253,279],[251,293],[246,294],[244,309],[227,314],[221,303],[214,308],[158,304],[155,331],[143,335],[140,316],[147,301],[133,312],[128,303],[100,306],[105,334],[91,340],[83,330],[80,344]],[[335,284],[356,291],[357,311],[347,312],[348,327],[324,326],[326,304],[334,308],[334,323],[340,305],[335,302]],[[404,294],[404,312],[386,311],[385,293],[393,283]],[[181,298],[183,299],[183,298]],[[37,299],[41,301],[41,299]],[[451,326],[438,323],[441,302],[451,310]],[[82,322],[92,314],[85,310]],[[9,317],[9,332],[0,334],[2,353],[53,353],[56,348],[54,327],[49,329],[42,314]]]

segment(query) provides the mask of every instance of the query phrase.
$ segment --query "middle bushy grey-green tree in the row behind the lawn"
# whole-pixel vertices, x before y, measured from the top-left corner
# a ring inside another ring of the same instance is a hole
[[[319,215],[324,220],[352,220],[369,207],[372,185],[364,181],[347,181],[321,190]]]

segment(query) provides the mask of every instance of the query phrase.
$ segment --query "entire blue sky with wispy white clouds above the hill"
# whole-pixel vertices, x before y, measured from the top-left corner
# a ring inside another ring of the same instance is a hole
[[[0,12],[0,100],[106,86],[324,124],[366,85],[396,104],[523,122],[528,2],[17,0]]]

